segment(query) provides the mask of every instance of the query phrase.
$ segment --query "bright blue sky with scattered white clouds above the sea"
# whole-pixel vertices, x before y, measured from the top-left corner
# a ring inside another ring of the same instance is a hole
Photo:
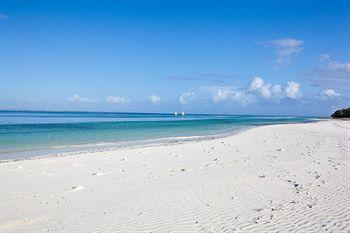
[[[328,116],[350,1],[0,0],[0,109]]]

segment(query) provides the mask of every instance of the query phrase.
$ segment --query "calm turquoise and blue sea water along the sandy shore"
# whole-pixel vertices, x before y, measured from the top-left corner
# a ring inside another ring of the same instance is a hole
[[[0,159],[145,140],[220,135],[249,126],[313,120],[279,116],[0,111]]]

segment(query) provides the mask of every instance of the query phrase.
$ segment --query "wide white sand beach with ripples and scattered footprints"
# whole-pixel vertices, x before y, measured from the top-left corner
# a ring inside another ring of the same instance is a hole
[[[349,232],[350,122],[2,163],[1,232]]]

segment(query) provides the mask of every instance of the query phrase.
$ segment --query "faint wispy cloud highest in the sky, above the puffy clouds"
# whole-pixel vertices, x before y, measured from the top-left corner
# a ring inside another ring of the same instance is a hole
[[[268,42],[276,48],[276,63],[279,65],[289,65],[292,58],[303,50],[303,41],[293,38],[283,38]]]

